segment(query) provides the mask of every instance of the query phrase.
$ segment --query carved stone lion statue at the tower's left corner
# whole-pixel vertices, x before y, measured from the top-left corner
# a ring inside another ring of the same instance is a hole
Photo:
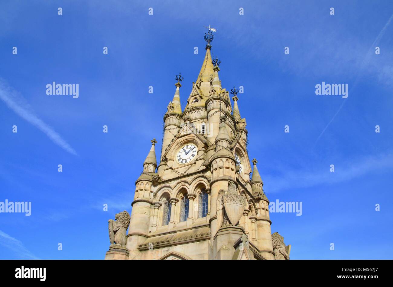
[[[127,228],[130,225],[130,214],[127,211],[115,215],[115,220],[108,220],[110,247],[125,247],[127,243]]]

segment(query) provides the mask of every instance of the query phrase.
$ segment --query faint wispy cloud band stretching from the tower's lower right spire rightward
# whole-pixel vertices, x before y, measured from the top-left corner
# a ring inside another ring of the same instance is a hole
[[[328,168],[317,171],[305,171],[301,169],[287,170],[285,174],[278,176],[264,176],[267,193],[275,193],[285,189],[291,189],[296,182],[297,187],[312,187],[317,185],[329,185],[332,183],[352,180],[366,173],[393,168],[393,153],[368,156],[350,163],[342,163],[335,166],[335,172],[331,173]],[[270,185],[271,184],[271,185]]]

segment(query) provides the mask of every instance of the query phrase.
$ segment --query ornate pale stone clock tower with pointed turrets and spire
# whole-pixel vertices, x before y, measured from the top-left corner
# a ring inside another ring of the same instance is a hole
[[[281,243],[273,250],[269,200],[257,160],[253,168],[250,164],[237,90],[230,98],[222,87],[220,62],[212,60],[210,50],[208,41],[184,110],[182,77],[176,77],[176,91],[163,117],[160,162],[153,139],[135,182],[127,243],[111,239],[105,259],[264,260],[289,253]]]

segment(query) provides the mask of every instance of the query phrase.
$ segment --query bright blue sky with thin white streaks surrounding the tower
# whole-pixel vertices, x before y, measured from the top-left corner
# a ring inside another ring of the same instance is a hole
[[[0,201],[32,202],[31,216],[0,213],[1,259],[104,258],[107,221],[130,212],[174,76],[183,102],[209,24],[223,87],[244,86],[269,200],[303,203],[302,216],[271,214],[291,258],[393,258],[391,1],[96,2],[0,4]],[[79,98],[46,95],[53,81],[79,84]],[[316,95],[323,81],[348,98]]]

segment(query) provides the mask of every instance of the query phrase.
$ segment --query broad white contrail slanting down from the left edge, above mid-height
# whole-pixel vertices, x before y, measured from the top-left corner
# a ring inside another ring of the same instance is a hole
[[[9,87],[2,78],[0,78],[0,99],[2,99],[16,114],[44,132],[54,143],[69,153],[77,155],[76,151],[61,138],[60,134],[56,133],[49,125],[45,124],[40,118],[38,118],[38,116],[31,111],[26,100]]]

